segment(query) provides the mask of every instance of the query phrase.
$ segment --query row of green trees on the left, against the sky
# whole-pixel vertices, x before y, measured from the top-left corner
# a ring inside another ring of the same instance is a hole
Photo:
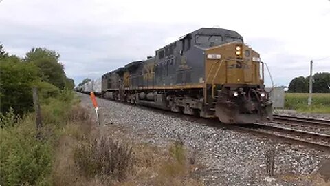
[[[32,110],[32,87],[39,88],[41,99],[72,90],[74,80],[66,76],[59,58],[58,52],[47,48],[32,48],[21,58],[0,45],[0,113],[10,107],[15,114]]]

